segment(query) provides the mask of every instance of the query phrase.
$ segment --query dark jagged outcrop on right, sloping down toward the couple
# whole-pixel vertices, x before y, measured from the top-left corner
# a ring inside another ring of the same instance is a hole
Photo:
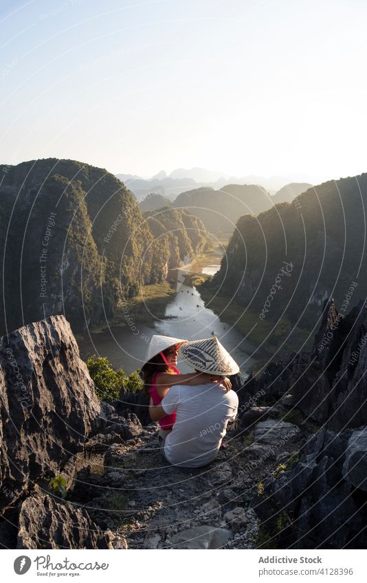
[[[367,424],[366,307],[367,301],[359,301],[344,315],[326,299],[311,352],[293,353],[287,362],[270,363],[260,378],[251,376],[238,391],[240,402],[247,398],[241,414],[288,395],[282,404],[333,431]]]

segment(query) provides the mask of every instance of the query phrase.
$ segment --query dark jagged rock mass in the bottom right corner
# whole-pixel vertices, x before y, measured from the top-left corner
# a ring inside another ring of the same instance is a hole
[[[265,481],[252,501],[262,521],[260,546],[365,549],[366,453],[361,432],[322,429],[310,439],[301,461]]]

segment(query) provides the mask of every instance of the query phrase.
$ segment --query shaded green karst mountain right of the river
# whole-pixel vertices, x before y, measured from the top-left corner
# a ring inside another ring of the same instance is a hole
[[[361,174],[311,187],[256,218],[242,216],[210,293],[220,288],[248,310],[252,325],[287,321],[289,330],[312,332],[330,295],[348,312],[367,297],[366,205]]]

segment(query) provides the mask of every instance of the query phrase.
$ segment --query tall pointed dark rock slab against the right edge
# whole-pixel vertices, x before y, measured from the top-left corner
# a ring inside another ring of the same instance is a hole
[[[302,366],[291,367],[289,404],[335,431],[367,423],[366,306],[360,301],[343,316],[326,300],[313,351]]]

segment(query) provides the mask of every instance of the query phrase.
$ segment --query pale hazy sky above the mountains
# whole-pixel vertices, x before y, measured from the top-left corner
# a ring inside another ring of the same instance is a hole
[[[0,7],[0,163],[367,172],[366,0]]]

